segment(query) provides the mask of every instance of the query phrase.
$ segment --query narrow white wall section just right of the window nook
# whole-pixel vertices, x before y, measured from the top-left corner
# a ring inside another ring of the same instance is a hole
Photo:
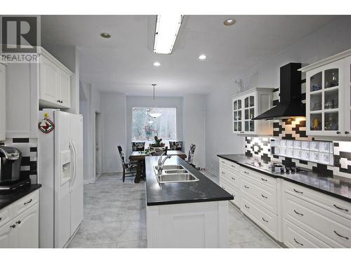
[[[205,167],[205,110],[204,95],[185,95],[183,97],[183,140],[185,153],[188,154],[190,144],[195,144],[193,163],[197,167]]]

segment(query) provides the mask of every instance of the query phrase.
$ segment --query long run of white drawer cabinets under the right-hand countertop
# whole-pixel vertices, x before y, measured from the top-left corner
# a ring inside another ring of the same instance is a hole
[[[351,203],[220,158],[232,203],[288,248],[351,248]]]

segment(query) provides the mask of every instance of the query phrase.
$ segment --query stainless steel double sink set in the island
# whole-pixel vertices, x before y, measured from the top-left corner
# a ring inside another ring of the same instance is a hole
[[[184,166],[165,165],[161,175],[157,173],[158,166],[154,166],[157,181],[161,184],[166,182],[196,182],[199,181],[195,175],[190,173]]]

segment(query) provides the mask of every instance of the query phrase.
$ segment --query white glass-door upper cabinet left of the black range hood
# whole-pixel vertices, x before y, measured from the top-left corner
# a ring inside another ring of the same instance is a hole
[[[232,96],[233,133],[245,135],[272,135],[271,121],[253,121],[273,106],[274,88],[252,88]]]

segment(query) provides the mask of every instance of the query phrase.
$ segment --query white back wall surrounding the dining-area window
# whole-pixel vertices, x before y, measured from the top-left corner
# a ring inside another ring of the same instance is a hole
[[[183,140],[183,98],[157,97],[157,107],[177,108],[177,140]],[[127,96],[126,97],[126,155],[131,154],[131,127],[133,107],[154,107],[152,97]]]

